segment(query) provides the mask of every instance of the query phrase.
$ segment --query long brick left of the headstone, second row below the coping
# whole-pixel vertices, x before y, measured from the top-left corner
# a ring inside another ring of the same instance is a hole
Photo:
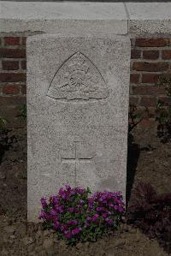
[[[25,49],[0,49],[0,57],[9,57],[9,58],[25,58],[26,50]]]

